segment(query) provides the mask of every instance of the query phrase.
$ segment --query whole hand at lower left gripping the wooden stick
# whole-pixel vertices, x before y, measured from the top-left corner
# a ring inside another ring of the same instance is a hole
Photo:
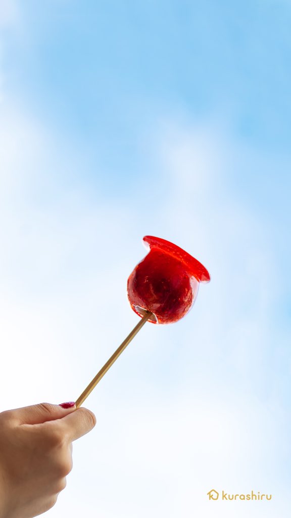
[[[0,518],[33,518],[54,506],[72,469],[72,441],[93,412],[41,403],[0,413]]]

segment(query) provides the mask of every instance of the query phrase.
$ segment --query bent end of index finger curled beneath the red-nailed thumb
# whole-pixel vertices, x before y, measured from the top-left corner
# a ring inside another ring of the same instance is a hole
[[[77,408],[74,412],[67,414],[60,420],[62,426],[66,430],[66,435],[69,440],[75,441],[85,434],[88,434],[96,424],[96,417],[87,408]]]

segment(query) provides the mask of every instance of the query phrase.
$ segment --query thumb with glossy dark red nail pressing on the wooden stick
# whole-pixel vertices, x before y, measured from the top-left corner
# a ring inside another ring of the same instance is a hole
[[[60,405],[39,403],[38,405],[32,405],[30,407],[9,410],[9,413],[11,412],[11,418],[18,421],[18,424],[39,424],[61,419],[74,410],[76,410],[75,405],[70,408],[63,408]]]

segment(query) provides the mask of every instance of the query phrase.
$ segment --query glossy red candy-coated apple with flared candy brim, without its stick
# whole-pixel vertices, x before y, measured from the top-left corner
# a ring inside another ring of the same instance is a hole
[[[149,322],[169,324],[180,320],[194,304],[199,282],[209,282],[207,269],[176,244],[153,236],[143,238],[150,252],[127,281],[130,306]]]

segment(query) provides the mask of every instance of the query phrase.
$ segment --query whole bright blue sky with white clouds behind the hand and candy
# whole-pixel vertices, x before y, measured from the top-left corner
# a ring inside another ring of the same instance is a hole
[[[288,0],[0,0],[1,407],[83,391],[137,322],[144,235],[212,276],[86,401],[98,424],[52,517],[96,500],[102,518],[232,517],[212,487],[290,514],[290,17]]]

